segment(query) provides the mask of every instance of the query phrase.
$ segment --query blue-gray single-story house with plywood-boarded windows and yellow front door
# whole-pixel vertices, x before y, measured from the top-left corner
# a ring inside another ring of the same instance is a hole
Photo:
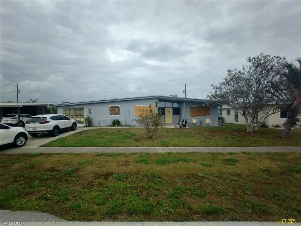
[[[159,101],[159,110],[165,124],[178,124],[184,118],[203,121],[209,118],[211,125],[218,124],[218,105],[203,106],[207,99],[182,98],[172,96],[141,96],[132,98],[107,99],[74,103],[56,104],[58,114],[74,118],[79,124],[84,123],[91,108],[93,126],[108,126],[116,118],[124,125],[137,125],[135,119],[149,109],[148,105]],[[184,110],[185,109],[185,110]]]

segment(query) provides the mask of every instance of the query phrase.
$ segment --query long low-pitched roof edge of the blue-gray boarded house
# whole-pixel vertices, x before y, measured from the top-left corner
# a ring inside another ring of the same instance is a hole
[[[103,100],[92,100],[92,101],[81,101],[81,102],[72,102],[72,103],[63,103],[63,104],[54,104],[56,107],[60,106],[70,106],[70,105],[81,105],[81,104],[95,104],[95,103],[104,103],[104,102],[114,102],[114,101],[126,101],[126,100],[141,100],[141,99],[164,99],[170,101],[194,101],[194,102],[206,102],[208,99],[197,99],[197,98],[186,98],[186,97],[176,97],[176,96],[138,96],[138,97],[127,97],[127,98],[116,98],[116,99],[103,99]]]

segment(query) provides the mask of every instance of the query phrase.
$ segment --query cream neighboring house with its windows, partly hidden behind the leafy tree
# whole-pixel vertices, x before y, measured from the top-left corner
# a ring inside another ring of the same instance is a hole
[[[222,106],[222,117],[224,118],[224,122],[227,123],[246,124],[242,112],[228,106]],[[301,116],[298,116],[298,118],[300,118],[301,121]],[[284,127],[283,123],[286,123],[286,121],[287,110],[283,110],[268,116],[268,118],[265,119],[265,124],[269,127],[273,127],[277,124],[280,125],[280,127]]]

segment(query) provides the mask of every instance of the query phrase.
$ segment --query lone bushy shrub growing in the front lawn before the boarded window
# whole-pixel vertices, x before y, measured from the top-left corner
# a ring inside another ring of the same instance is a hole
[[[139,115],[135,121],[137,121],[139,126],[144,127],[147,139],[152,139],[163,125],[160,111],[159,113],[153,112],[151,104],[149,105],[149,110]]]

